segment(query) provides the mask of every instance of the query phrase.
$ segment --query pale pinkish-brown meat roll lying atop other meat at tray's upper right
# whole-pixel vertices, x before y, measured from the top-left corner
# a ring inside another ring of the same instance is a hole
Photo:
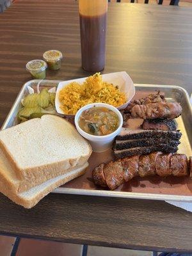
[[[177,102],[157,102],[145,105],[137,104],[131,109],[132,117],[143,119],[173,119],[180,116],[181,112],[182,108]]]

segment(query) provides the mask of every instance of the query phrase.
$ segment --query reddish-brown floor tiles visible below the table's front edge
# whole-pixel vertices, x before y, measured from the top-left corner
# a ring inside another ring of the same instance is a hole
[[[0,236],[0,256],[82,256],[83,245],[35,239],[20,239],[15,251],[15,237]],[[15,251],[15,253],[13,253]],[[152,256],[152,252],[88,246],[84,256]]]

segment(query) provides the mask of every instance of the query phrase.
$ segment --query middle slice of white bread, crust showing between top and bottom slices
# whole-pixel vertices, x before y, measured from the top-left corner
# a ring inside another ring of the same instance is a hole
[[[78,164],[76,168],[79,168],[81,166],[79,166]],[[62,170],[60,172],[52,172],[49,179],[68,173],[71,170],[74,170],[74,168],[68,168],[67,170]],[[47,181],[47,176],[42,175],[38,177],[38,179],[33,180],[17,179],[17,176],[15,175],[10,161],[8,161],[3,150],[1,150],[0,148],[0,180],[3,181],[3,186],[12,191],[12,193],[21,193]]]

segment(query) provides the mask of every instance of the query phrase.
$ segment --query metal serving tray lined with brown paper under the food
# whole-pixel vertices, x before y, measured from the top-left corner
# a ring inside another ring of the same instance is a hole
[[[20,100],[28,94],[27,86],[36,88],[40,80],[28,81],[22,89],[8,114],[3,127],[6,129],[17,124],[17,113],[21,106]],[[51,88],[57,86],[60,81],[44,80],[40,86]],[[147,96],[151,92],[161,90],[165,93],[168,101],[180,102],[182,106],[182,116],[177,118],[177,129],[182,132],[179,153],[192,156],[192,109],[189,102],[189,95],[179,86],[134,84],[136,86],[136,95],[134,99]],[[139,125],[139,124],[137,124]],[[115,191],[100,189],[90,180],[91,172],[95,166],[102,162],[112,159],[111,150],[105,154],[93,153],[90,157],[90,166],[88,171],[81,177],[71,180],[60,188],[54,189],[52,193],[74,194],[74,195],[92,195],[92,196],[112,196],[121,198],[141,198],[151,200],[173,200],[192,202],[192,179],[189,177],[148,177],[141,179],[139,177],[120,186]]]

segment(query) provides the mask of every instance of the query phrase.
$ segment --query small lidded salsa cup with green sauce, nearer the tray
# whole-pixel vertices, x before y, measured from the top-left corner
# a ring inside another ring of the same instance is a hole
[[[31,60],[26,65],[26,70],[31,73],[33,79],[45,79],[47,63],[44,60]]]

